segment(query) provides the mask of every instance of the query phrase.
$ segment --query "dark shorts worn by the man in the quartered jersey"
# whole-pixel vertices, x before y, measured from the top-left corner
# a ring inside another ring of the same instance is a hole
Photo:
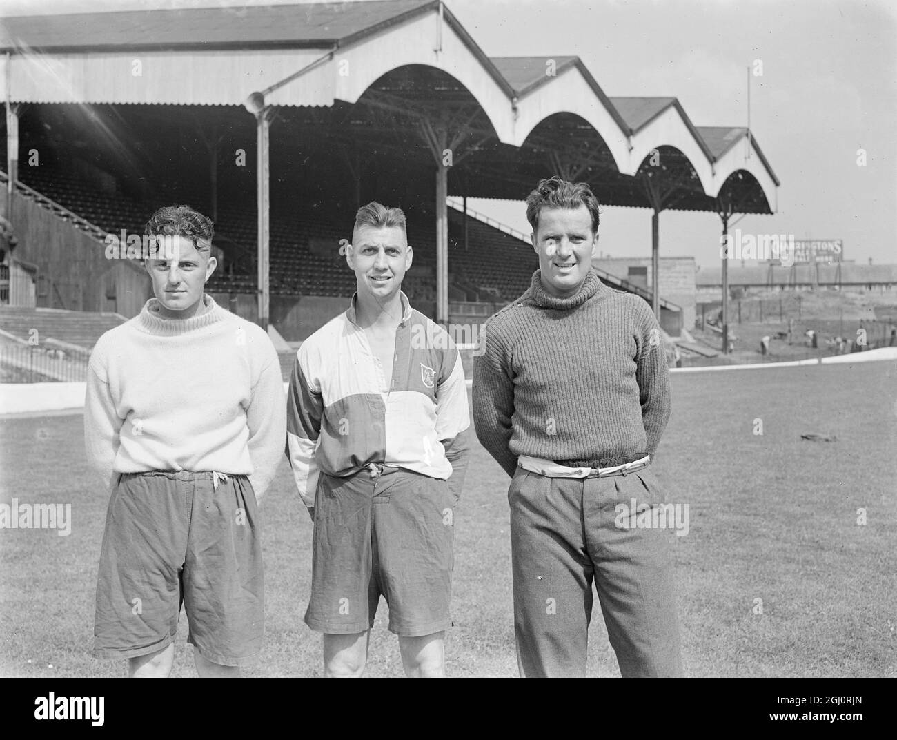
[[[451,624],[455,502],[448,483],[404,469],[321,474],[305,622],[327,634],[370,630],[380,596],[389,631],[422,637]]]

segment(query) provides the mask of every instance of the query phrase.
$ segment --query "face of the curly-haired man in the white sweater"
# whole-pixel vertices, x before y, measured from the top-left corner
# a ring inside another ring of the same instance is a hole
[[[157,257],[146,261],[152,291],[169,318],[192,316],[203,300],[205,281],[218,262],[209,249],[197,250],[193,241],[179,234],[159,238]]]

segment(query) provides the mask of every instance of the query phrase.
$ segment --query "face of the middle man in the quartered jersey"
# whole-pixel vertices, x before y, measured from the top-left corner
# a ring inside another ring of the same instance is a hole
[[[353,234],[346,262],[355,271],[358,292],[386,300],[402,286],[411,266],[412,250],[405,230],[397,226],[361,226]]]

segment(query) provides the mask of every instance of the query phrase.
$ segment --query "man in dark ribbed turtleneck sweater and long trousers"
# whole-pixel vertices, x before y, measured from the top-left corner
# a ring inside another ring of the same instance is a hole
[[[477,437],[512,477],[520,675],[585,675],[593,581],[620,672],[682,675],[668,533],[619,516],[663,503],[648,467],[670,409],[657,319],[591,268],[588,185],[542,180],[527,220],[539,269],[487,322],[473,388]]]

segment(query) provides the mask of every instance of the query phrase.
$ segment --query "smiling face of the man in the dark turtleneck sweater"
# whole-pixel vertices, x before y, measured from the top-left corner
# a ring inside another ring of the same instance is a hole
[[[592,266],[598,245],[588,208],[582,204],[575,209],[543,208],[532,239],[545,292],[555,298],[575,295]]]

